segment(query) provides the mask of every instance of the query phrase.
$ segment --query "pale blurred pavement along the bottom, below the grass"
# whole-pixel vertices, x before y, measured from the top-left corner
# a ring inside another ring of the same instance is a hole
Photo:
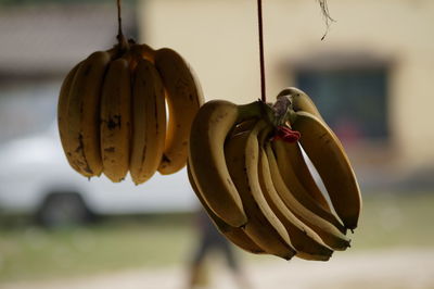
[[[221,260],[208,260],[209,289],[235,289]],[[248,256],[248,289],[433,289],[434,250],[337,252],[329,262]],[[2,289],[184,289],[182,267],[138,268],[73,279],[0,284]],[[246,289],[246,288],[245,288]]]

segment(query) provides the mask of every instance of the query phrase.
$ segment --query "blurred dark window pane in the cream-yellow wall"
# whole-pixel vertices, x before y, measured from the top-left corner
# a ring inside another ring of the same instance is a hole
[[[343,141],[387,140],[385,67],[298,70],[295,80]]]

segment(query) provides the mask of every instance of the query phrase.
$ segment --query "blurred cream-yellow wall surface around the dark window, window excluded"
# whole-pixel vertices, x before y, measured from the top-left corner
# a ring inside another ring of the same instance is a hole
[[[206,98],[245,103],[260,97],[256,1],[143,0],[142,39],[171,47],[200,75]],[[264,1],[268,99],[292,85],[297,63],[330,52],[362,53],[391,64],[393,165],[434,163],[434,1],[329,0],[326,25],[317,1]]]

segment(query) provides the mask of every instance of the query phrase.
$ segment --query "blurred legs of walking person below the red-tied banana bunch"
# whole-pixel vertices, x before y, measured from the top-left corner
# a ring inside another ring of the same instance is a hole
[[[241,268],[232,244],[217,230],[203,209],[196,213],[195,227],[199,231],[199,244],[190,260],[187,288],[208,287],[210,272],[205,267],[205,260],[210,253],[216,252],[224,255],[237,286],[240,289],[251,289],[252,286]]]

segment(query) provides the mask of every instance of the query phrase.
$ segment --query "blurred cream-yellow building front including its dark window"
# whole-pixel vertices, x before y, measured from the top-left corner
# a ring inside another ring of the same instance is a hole
[[[360,167],[400,174],[434,166],[434,1],[264,1],[267,97],[311,95]],[[142,0],[141,41],[171,47],[194,67],[206,100],[260,97],[253,0]]]

